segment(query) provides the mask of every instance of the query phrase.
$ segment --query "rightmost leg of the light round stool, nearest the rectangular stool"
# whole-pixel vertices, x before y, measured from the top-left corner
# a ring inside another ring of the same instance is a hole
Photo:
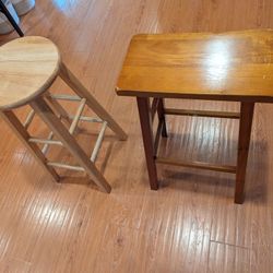
[[[72,74],[64,63],[60,66],[60,78],[80,96],[86,98],[88,107],[103,120],[107,121],[109,128],[119,136],[120,140],[127,140],[127,134],[104,109],[104,107],[91,95],[83,84]]]

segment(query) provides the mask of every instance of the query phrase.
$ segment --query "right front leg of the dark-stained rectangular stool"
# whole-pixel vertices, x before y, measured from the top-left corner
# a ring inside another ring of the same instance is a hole
[[[237,157],[237,170],[236,170],[236,189],[235,189],[235,203],[237,204],[242,204],[245,198],[244,190],[245,190],[249,143],[251,138],[253,110],[254,110],[254,103],[241,103],[238,157]]]

